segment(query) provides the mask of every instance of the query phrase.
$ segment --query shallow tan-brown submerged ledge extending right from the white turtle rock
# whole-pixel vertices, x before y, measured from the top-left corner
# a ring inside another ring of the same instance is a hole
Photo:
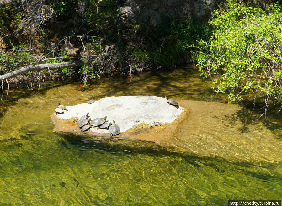
[[[256,115],[244,108],[225,103],[180,100],[185,111],[171,124],[159,127],[140,124],[117,135],[121,144],[144,141],[148,147],[159,146],[168,151],[198,156],[219,156],[227,160],[282,162],[282,142],[271,133]],[[82,133],[73,120],[58,121],[55,132],[71,132],[95,139],[109,134]],[[128,141],[130,140],[130,141]],[[108,139],[107,141],[111,141]],[[115,140],[113,140],[115,141]],[[109,143],[111,144],[111,143]]]

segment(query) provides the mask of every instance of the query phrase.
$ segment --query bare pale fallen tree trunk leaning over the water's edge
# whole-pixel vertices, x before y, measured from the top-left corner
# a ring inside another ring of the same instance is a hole
[[[64,69],[64,68],[68,68],[68,67],[76,67],[76,66],[82,66],[83,65],[83,61],[81,60],[73,60],[73,61],[66,61],[66,62],[61,62],[61,63],[49,63],[49,64],[38,64],[38,65],[29,65],[29,66],[24,66],[21,67],[15,71],[12,71],[10,73],[7,74],[3,74],[0,76],[0,83],[4,80],[4,79],[9,79],[11,77],[15,77],[19,74],[28,72],[28,71],[34,71],[34,70],[42,70],[42,69]]]

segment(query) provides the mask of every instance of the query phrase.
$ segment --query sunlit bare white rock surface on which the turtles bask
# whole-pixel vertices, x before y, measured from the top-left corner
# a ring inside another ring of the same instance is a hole
[[[120,132],[125,132],[138,124],[152,124],[155,122],[171,123],[184,109],[175,108],[167,103],[167,100],[156,96],[121,96],[106,97],[92,104],[83,103],[75,106],[66,106],[68,111],[57,114],[60,119],[80,118],[89,112],[91,119],[97,117],[107,121],[113,120],[120,126]],[[90,131],[98,133],[109,133],[105,129],[91,128]]]

